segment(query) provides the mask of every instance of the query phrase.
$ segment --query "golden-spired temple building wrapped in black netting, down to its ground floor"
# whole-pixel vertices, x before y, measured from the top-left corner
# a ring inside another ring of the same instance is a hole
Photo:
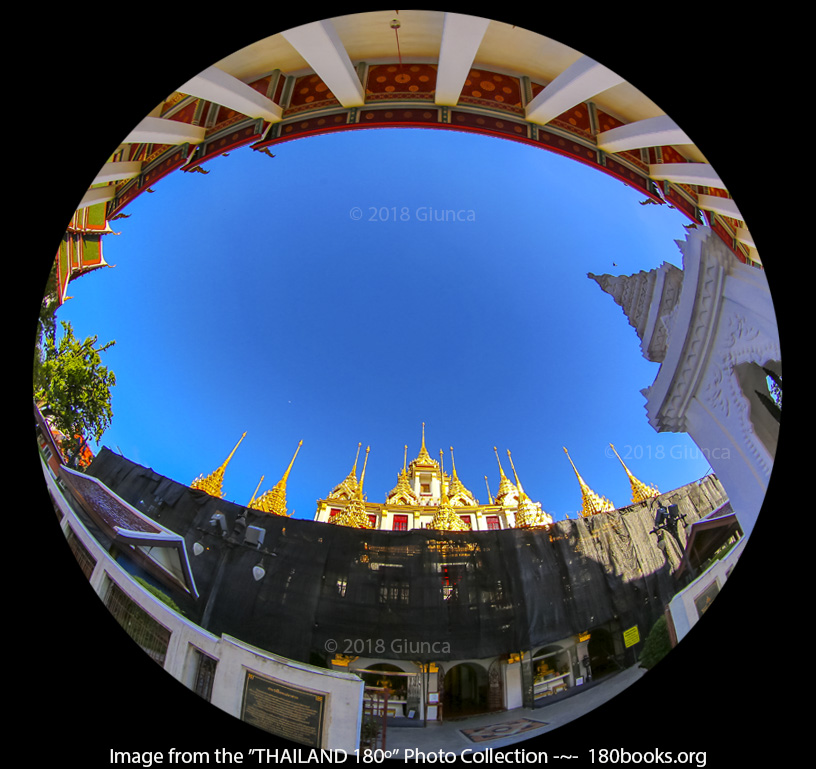
[[[221,497],[231,457],[189,487],[107,448],[86,474],[59,475],[109,552],[189,621],[387,686],[396,717],[422,710],[422,671],[436,674],[424,684],[434,718],[532,707],[633,664],[678,590],[687,527],[729,507],[715,476],[661,494],[624,465],[630,505],[615,509],[576,470],[582,515],[553,522],[500,461],[497,494],[479,505],[455,465],[430,457],[423,427],[384,504],[367,501],[355,461],[316,520],[295,519],[292,463],[242,506]],[[159,547],[151,522],[175,542]]]

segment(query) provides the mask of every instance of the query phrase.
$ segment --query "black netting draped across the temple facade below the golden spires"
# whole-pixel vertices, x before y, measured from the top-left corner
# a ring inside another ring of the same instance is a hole
[[[191,620],[303,662],[492,657],[613,621],[643,635],[678,589],[685,529],[658,547],[658,500],[544,529],[393,532],[248,510],[108,449],[88,472],[185,538],[201,595],[183,605]],[[725,501],[712,476],[659,497],[685,525]],[[247,526],[264,530],[260,547]]]

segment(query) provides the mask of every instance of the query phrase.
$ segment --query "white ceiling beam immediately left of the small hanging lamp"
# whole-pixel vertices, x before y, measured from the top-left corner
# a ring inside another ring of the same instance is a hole
[[[331,20],[303,24],[281,34],[306,59],[344,107],[365,104],[363,84]]]

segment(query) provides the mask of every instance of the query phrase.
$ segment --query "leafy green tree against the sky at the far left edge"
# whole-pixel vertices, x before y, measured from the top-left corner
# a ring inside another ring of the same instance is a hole
[[[101,353],[116,342],[94,347],[96,336],[80,342],[70,323],[61,321],[60,325],[63,334],[59,342],[56,335],[43,335],[34,397],[54,427],[66,436],[63,450],[68,464],[76,466],[83,439],[100,440],[113,419],[111,388],[116,376],[102,365]]]

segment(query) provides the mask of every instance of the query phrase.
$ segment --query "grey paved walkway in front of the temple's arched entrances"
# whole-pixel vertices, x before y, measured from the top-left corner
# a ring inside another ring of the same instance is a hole
[[[427,727],[399,727],[389,724],[386,732],[386,750],[397,750],[395,758],[405,758],[407,749],[425,753],[439,750],[461,753],[503,748],[539,734],[557,729],[570,721],[580,718],[590,710],[607,702],[637,681],[645,670],[637,666],[616,673],[580,694],[566,697],[543,708],[514,708],[500,713],[486,713],[473,718],[455,721],[429,721]],[[526,722],[525,722],[526,719]],[[515,722],[515,723],[514,723]],[[539,722],[539,725],[536,723]],[[482,742],[473,742],[462,733],[463,729],[499,727],[496,731],[512,732],[508,736],[497,737]],[[529,727],[524,731],[524,727]],[[410,753],[408,756],[410,757]]]

